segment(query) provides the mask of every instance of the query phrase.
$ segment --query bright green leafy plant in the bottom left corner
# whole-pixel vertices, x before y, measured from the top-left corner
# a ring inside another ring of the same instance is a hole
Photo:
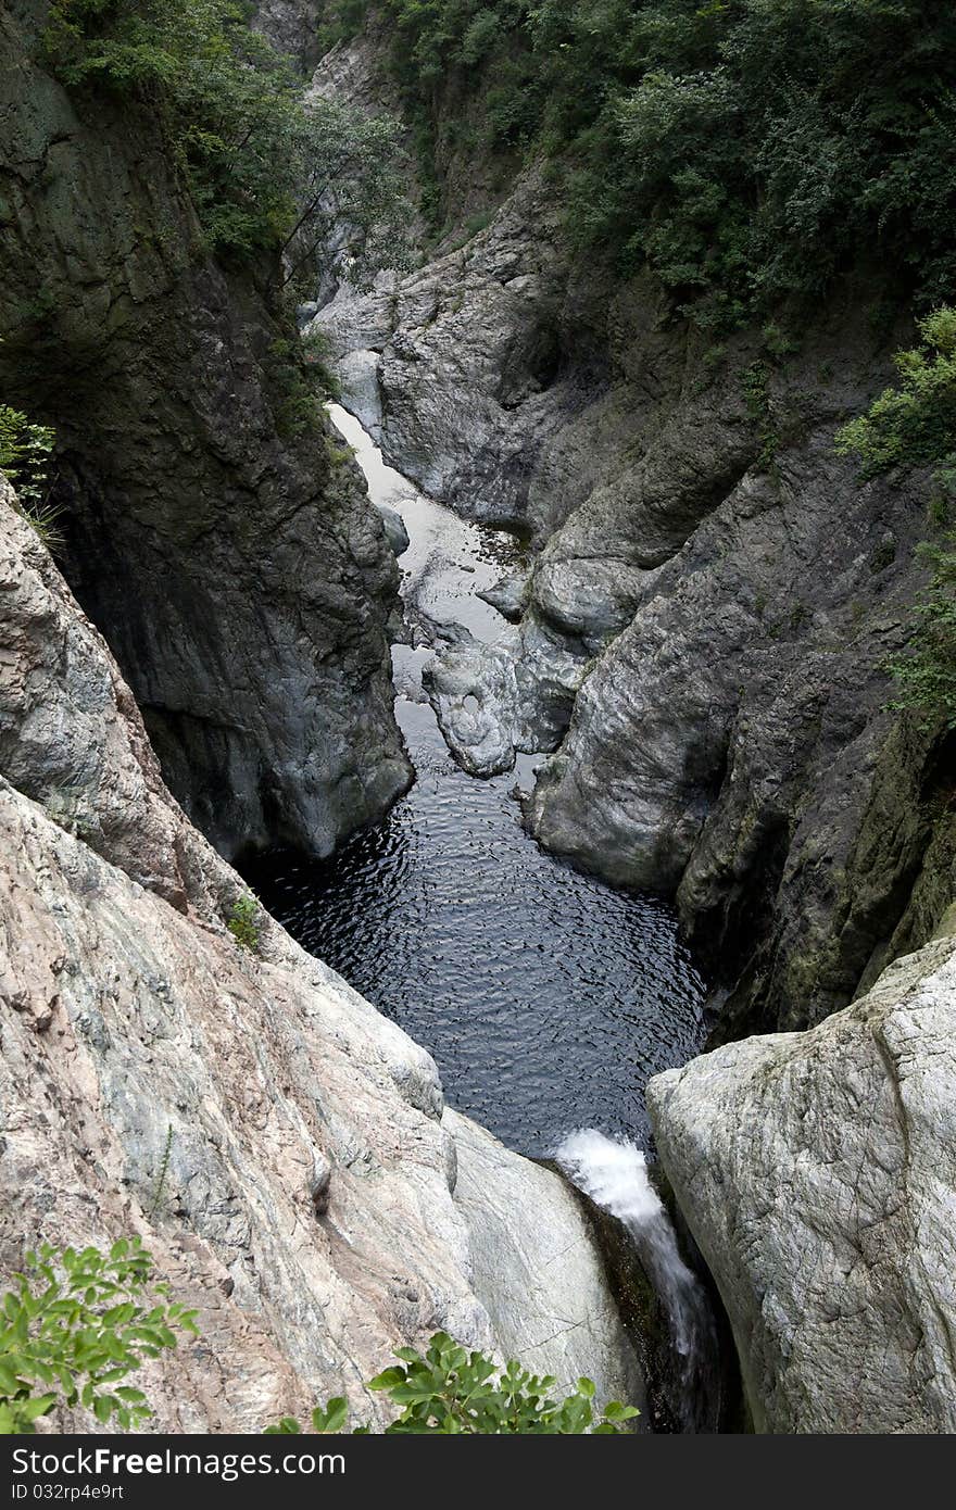
[[[153,1259],[137,1237],[109,1253],[44,1243],[29,1252],[0,1300],[0,1434],[32,1433],[54,1406],[82,1406],[121,1430],[153,1412],[121,1380],[143,1359],[196,1332],[195,1311],[151,1284]]]

